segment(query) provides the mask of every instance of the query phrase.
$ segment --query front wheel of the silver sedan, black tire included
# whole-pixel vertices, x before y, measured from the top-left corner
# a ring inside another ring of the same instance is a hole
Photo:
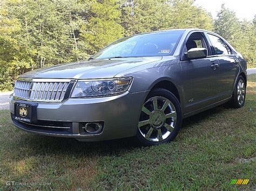
[[[143,104],[137,138],[145,146],[170,142],[178,135],[181,122],[177,97],[166,89],[154,89]]]

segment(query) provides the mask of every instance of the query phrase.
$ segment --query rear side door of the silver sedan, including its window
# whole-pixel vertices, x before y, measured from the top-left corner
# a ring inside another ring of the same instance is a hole
[[[212,52],[219,61],[220,98],[224,100],[233,93],[234,83],[239,73],[238,58],[223,39],[211,33],[207,33],[207,36],[211,41]]]

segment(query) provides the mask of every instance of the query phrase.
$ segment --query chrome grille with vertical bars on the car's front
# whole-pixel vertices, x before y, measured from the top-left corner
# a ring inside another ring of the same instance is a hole
[[[30,101],[62,101],[69,83],[70,81],[18,80],[15,83],[14,96]]]

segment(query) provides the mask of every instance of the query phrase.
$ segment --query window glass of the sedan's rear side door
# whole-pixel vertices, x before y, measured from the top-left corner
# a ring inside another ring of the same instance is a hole
[[[215,50],[215,54],[220,55],[220,54],[230,54],[231,53],[231,49],[219,37],[216,37],[212,34],[208,34],[208,37],[211,40],[212,46]]]

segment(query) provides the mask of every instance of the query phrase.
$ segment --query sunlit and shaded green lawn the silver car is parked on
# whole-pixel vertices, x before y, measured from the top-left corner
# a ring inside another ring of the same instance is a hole
[[[187,118],[174,142],[153,147],[140,147],[135,138],[81,143],[32,135],[15,128],[3,110],[0,190],[252,190],[255,112],[256,75],[250,75],[243,108],[220,106]],[[230,185],[232,179],[250,182]]]

